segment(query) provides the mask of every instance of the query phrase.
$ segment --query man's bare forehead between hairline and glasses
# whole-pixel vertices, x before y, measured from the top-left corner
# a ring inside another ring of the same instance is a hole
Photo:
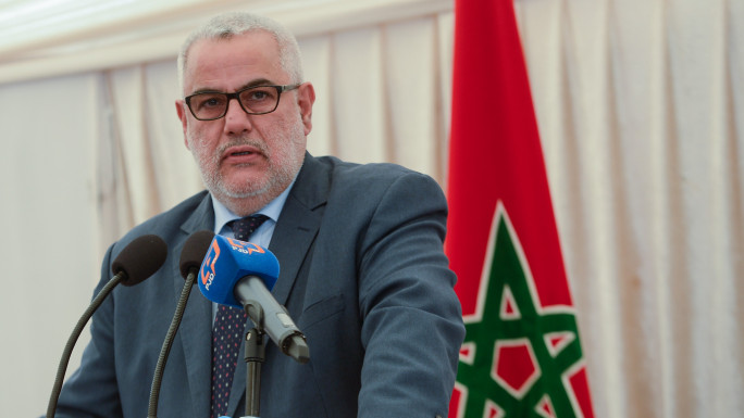
[[[285,78],[276,40],[269,33],[256,30],[195,42],[187,55],[184,92],[230,90],[256,79],[283,83]]]

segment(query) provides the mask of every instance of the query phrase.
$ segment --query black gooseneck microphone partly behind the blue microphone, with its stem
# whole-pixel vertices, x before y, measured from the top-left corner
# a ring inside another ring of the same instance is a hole
[[[173,340],[175,340],[175,334],[181,326],[181,319],[184,317],[186,302],[188,302],[188,296],[191,293],[191,288],[194,287],[197,273],[199,271],[199,266],[204,258],[204,254],[207,254],[207,251],[209,250],[212,237],[214,237],[214,233],[208,230],[194,232],[188,237],[186,243],[184,243],[184,249],[181,251],[181,276],[184,277],[186,283],[181,291],[181,297],[178,299],[175,314],[173,314],[171,327],[168,329],[163,346],[160,350],[160,357],[158,357],[158,365],[156,366],[152,387],[150,388],[150,404],[147,410],[148,418],[158,417],[158,400],[160,398],[160,387],[163,380],[165,363],[171,353],[171,346],[173,345]]]

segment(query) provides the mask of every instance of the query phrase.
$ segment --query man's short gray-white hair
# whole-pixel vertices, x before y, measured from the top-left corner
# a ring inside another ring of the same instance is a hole
[[[280,64],[289,74],[290,83],[302,83],[302,58],[295,36],[280,23],[264,16],[251,13],[224,13],[220,14],[203,26],[194,30],[184,41],[178,54],[178,84],[183,91],[186,62],[191,46],[202,39],[231,39],[252,30],[263,30],[276,39],[278,43]]]

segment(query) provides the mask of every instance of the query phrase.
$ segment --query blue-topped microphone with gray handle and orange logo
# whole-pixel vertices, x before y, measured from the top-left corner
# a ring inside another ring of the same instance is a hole
[[[199,270],[199,290],[212,302],[243,307],[256,328],[265,331],[284,354],[307,363],[310,349],[305,334],[271,294],[278,269],[278,261],[269,250],[215,236]]]

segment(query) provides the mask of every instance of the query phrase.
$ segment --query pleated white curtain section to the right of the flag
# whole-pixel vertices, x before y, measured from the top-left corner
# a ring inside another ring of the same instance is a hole
[[[518,1],[599,417],[744,409],[744,3]]]

